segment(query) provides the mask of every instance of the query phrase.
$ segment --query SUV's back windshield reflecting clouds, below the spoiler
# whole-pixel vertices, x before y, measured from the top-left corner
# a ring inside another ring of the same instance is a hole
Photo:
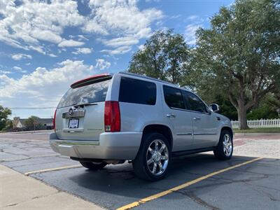
[[[58,108],[73,106],[76,104],[105,102],[110,81],[111,79],[82,87],[70,88],[62,97],[58,104]]]

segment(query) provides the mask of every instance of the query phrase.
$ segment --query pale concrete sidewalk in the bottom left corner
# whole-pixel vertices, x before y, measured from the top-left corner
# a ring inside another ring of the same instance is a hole
[[[102,209],[0,165],[0,209]]]

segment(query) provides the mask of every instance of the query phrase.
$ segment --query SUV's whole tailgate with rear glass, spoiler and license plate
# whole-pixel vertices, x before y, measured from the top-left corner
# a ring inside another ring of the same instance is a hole
[[[93,76],[71,85],[57,106],[55,132],[59,139],[99,141],[110,84],[111,76]]]

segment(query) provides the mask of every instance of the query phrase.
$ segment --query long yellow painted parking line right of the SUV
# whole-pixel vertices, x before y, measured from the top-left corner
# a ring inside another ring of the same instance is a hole
[[[191,185],[193,185],[193,184],[195,184],[195,183],[198,183],[198,182],[200,182],[200,181],[202,181],[202,180],[204,180],[204,179],[208,179],[208,178],[211,177],[211,176],[215,176],[215,175],[217,175],[217,174],[221,174],[221,173],[223,173],[223,172],[227,172],[227,171],[229,171],[229,170],[231,170],[231,169],[235,169],[235,168],[237,168],[237,167],[241,167],[242,165],[246,165],[246,164],[248,164],[248,163],[255,162],[255,161],[260,160],[260,159],[262,159],[262,158],[255,158],[255,159],[253,159],[253,160],[248,160],[248,161],[246,161],[246,162],[242,162],[242,163],[237,164],[237,165],[235,165],[235,166],[228,167],[228,168],[225,168],[225,169],[221,169],[221,170],[219,170],[219,171],[217,171],[217,172],[213,172],[213,173],[207,174],[207,175],[205,175],[205,176],[201,176],[200,178],[195,179],[195,180],[193,180],[193,181],[188,181],[188,182],[186,182],[186,183],[183,183],[181,186],[176,186],[175,188],[171,188],[171,189],[169,189],[169,190],[165,190],[165,191],[163,191],[162,193],[158,193],[158,194],[155,194],[155,195],[151,195],[151,196],[145,197],[144,199],[141,199],[141,200],[139,200],[139,201],[137,201],[137,202],[132,202],[131,204],[127,204],[127,205],[125,205],[125,206],[123,206],[123,207],[118,208],[117,210],[132,209],[132,208],[137,207],[137,206],[139,206],[139,205],[141,205],[141,204],[145,204],[146,202],[149,202],[149,201],[151,201],[151,200],[155,200],[155,199],[157,199],[157,198],[159,198],[159,197],[168,195],[168,194],[173,193],[173,192],[175,192],[175,191],[178,191],[178,190],[181,190],[181,189],[186,188],[186,187],[188,187],[188,186],[191,186]]]

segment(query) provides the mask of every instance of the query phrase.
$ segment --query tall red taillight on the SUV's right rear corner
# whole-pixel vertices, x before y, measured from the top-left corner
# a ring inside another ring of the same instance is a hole
[[[120,106],[118,102],[105,102],[105,132],[120,131]]]

